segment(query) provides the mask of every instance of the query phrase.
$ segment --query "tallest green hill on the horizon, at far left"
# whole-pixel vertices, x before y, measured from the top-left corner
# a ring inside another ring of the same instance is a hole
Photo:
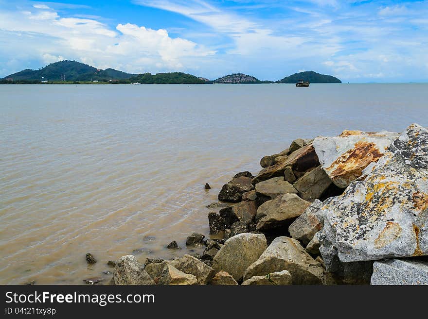
[[[8,75],[5,79],[12,79],[13,81],[62,81],[65,78],[66,81],[109,81],[129,79],[134,75],[112,68],[102,70],[77,61],[64,60],[38,70],[25,69]]]

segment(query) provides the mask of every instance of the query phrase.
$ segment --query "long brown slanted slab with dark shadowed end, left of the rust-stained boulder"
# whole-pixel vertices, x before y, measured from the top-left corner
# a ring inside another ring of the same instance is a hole
[[[266,181],[273,177],[284,176],[286,167],[291,167],[293,171],[304,172],[308,168],[317,167],[319,165],[318,156],[312,144],[309,144],[294,151],[286,160],[262,169],[259,174],[252,179],[251,183],[256,185],[259,182]]]

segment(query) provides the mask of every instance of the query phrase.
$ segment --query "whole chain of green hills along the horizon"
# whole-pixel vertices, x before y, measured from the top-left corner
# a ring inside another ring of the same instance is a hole
[[[338,78],[314,71],[295,73],[275,83],[296,83],[299,80],[310,83],[341,83]],[[243,74],[232,73],[216,80],[208,80],[183,72],[133,74],[113,68],[99,69],[77,61],[64,60],[51,63],[37,70],[25,69],[0,79],[0,84],[14,83],[138,83],[138,84],[258,84],[274,83]]]

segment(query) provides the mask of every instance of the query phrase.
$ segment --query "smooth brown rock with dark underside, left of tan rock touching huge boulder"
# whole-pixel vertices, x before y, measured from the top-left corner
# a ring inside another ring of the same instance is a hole
[[[285,194],[267,201],[257,209],[256,219],[259,221],[256,229],[267,231],[283,227],[302,215],[310,204],[296,194]]]

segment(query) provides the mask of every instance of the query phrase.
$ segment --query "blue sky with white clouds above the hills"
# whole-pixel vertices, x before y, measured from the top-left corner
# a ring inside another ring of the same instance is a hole
[[[0,0],[0,77],[66,59],[209,79],[428,82],[428,1]]]

